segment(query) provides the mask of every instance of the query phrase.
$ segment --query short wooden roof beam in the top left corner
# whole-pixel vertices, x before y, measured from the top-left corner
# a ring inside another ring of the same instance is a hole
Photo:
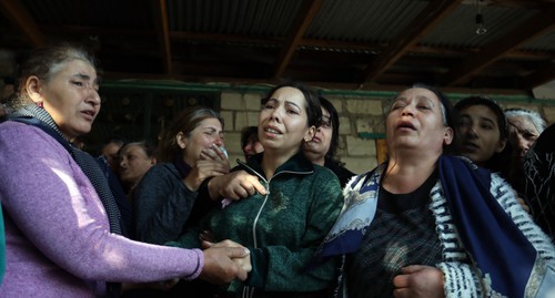
[[[0,0],[0,10],[23,33],[31,47],[37,48],[46,44],[46,39],[40,33],[37,23],[20,1]]]

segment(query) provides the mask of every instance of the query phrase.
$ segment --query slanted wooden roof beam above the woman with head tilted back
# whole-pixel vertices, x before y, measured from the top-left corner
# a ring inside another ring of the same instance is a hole
[[[411,48],[420,41],[430,30],[437,25],[451,11],[457,8],[463,0],[434,0],[414,18],[398,35],[393,39],[390,45],[383,50],[364,71],[364,82],[374,81],[380,74],[385,72],[398,59],[411,51]],[[363,83],[364,83],[363,82]]]

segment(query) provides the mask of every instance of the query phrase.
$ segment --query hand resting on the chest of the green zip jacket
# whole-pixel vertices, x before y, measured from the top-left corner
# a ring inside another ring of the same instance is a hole
[[[235,171],[226,175],[218,176],[209,182],[210,197],[241,199],[259,192],[266,194],[266,188],[260,183],[259,178],[245,171]]]

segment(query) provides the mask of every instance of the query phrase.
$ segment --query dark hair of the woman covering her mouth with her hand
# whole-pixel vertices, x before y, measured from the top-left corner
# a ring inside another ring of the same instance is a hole
[[[173,163],[181,158],[181,147],[179,146],[175,136],[182,132],[185,136],[190,136],[191,132],[199,126],[199,124],[206,119],[218,119],[222,124],[223,120],[211,109],[204,106],[191,106],[183,110],[170,124],[168,130],[163,132],[159,147],[158,147],[158,162],[159,163]]]

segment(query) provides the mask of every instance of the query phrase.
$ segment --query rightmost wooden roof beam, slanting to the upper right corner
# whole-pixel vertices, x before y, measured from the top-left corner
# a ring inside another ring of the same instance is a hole
[[[553,16],[555,16],[555,6],[533,16],[515,30],[490,43],[483,51],[453,66],[443,79],[444,85],[453,86],[461,83],[519,45],[553,30],[555,28]]]

